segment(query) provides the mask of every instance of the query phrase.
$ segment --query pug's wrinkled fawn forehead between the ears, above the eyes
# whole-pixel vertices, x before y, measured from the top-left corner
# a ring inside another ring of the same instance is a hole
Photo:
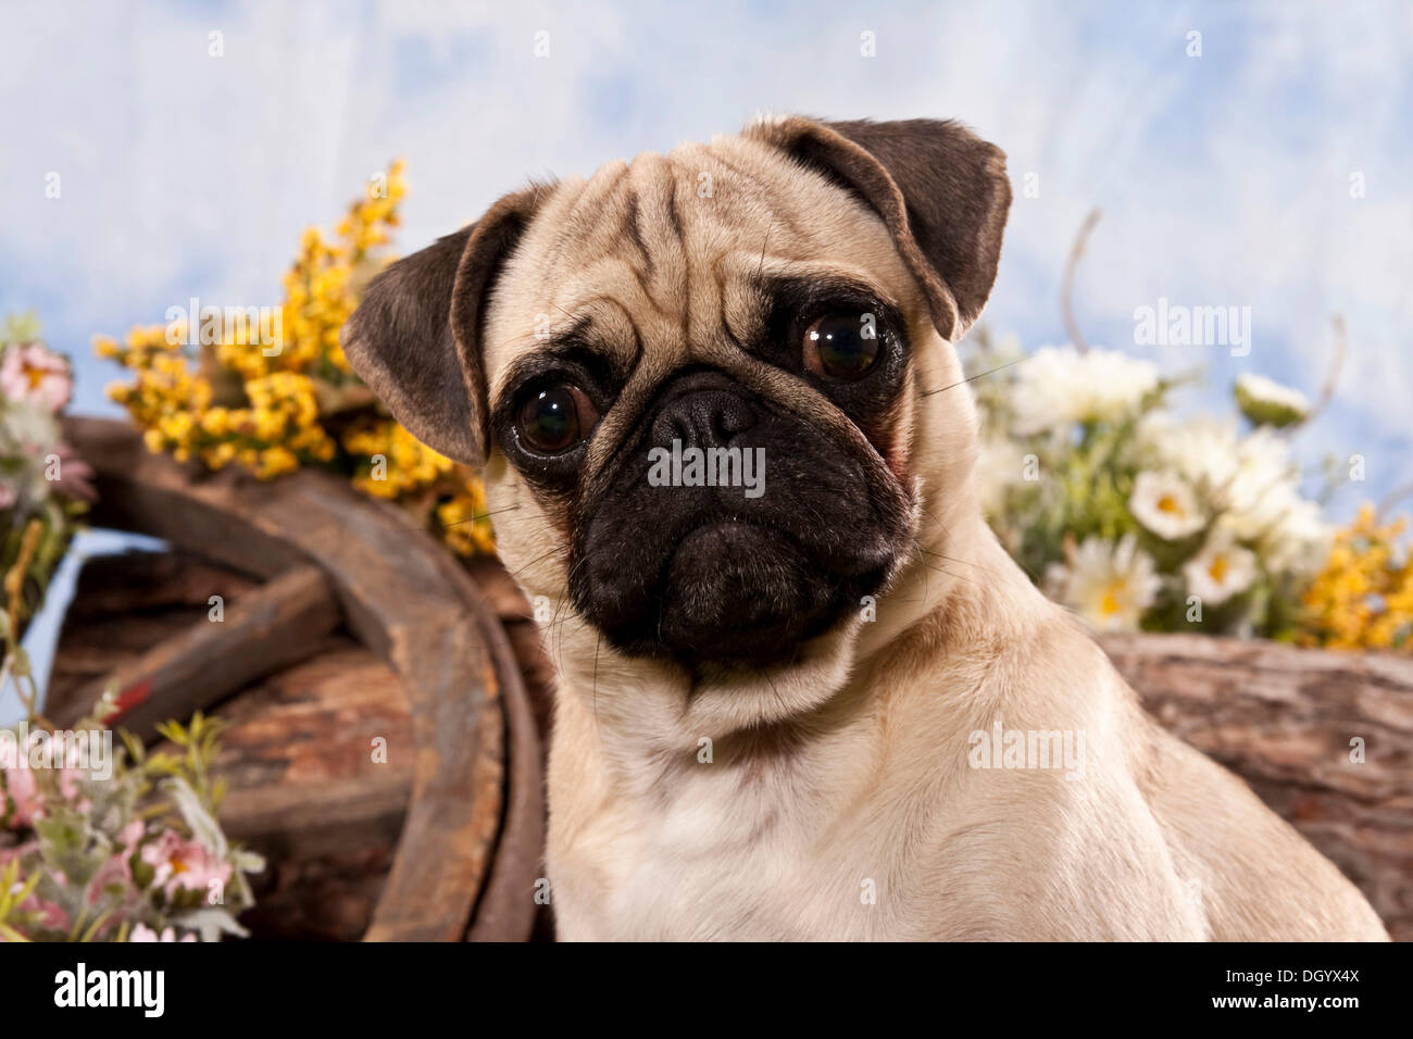
[[[777,150],[740,137],[610,163],[543,204],[492,294],[490,399],[509,365],[567,335],[629,383],[731,365],[783,277],[849,278],[921,305],[883,221]]]

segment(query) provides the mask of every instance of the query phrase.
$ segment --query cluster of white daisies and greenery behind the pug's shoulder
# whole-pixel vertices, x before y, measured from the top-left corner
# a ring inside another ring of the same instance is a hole
[[[986,516],[1031,580],[1096,630],[1293,638],[1330,530],[1283,430],[1310,406],[1238,382],[1245,417],[1181,418],[1146,360],[975,336]]]

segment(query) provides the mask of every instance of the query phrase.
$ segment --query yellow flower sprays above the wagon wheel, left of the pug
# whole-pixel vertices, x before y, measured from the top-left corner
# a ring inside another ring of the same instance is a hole
[[[237,465],[260,479],[300,465],[339,465],[374,498],[403,500],[437,522],[458,551],[493,551],[485,492],[463,466],[421,444],[396,421],[346,410],[356,383],[339,344],[369,278],[389,262],[386,246],[407,194],[394,161],[353,201],[332,235],[307,228],[281,277],[276,342],[252,342],[244,327],[223,328],[198,349],[181,327],[148,325],[120,342],[95,336],[93,352],[123,365],[131,382],[109,387],[151,451],[199,458],[212,469]],[[270,349],[276,348],[276,349]],[[267,353],[268,349],[268,353]],[[319,411],[332,401],[336,425]],[[331,433],[333,430],[333,433]]]

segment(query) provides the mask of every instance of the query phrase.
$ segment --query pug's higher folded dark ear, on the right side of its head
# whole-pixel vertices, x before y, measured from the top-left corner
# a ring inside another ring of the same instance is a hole
[[[964,126],[935,119],[762,122],[770,143],[872,206],[927,293],[933,324],[958,338],[996,281],[1010,208],[1006,154]]]

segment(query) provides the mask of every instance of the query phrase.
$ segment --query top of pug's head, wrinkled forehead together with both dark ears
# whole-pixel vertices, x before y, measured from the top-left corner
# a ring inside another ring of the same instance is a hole
[[[373,278],[341,339],[400,423],[479,466],[520,362],[557,339],[609,369],[617,413],[694,360],[781,396],[736,344],[787,281],[882,304],[909,332],[926,314],[955,342],[986,304],[1009,205],[1005,155],[957,123],[760,122],[504,195]]]

